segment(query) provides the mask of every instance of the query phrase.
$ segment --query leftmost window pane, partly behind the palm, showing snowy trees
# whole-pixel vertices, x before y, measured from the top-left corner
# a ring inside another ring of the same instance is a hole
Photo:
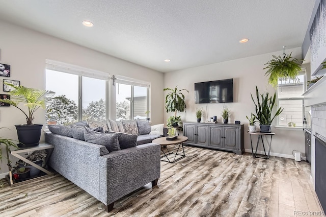
[[[58,125],[67,125],[78,121],[78,76],[46,69],[46,89],[55,91],[56,96],[66,97],[68,105],[53,100],[49,105],[46,120],[57,120]],[[60,111],[60,112],[58,112]]]

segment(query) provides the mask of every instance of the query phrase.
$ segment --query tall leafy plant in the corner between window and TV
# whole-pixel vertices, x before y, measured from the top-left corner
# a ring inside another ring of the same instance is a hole
[[[164,88],[163,90],[170,90],[171,92],[168,93],[165,97],[165,108],[167,112],[175,112],[174,116],[177,117],[177,111],[183,112],[186,109],[186,105],[184,102],[184,95],[182,93],[183,90],[189,92],[186,89],[178,90],[176,86],[174,89],[171,88]],[[180,116],[179,116],[180,117]]]

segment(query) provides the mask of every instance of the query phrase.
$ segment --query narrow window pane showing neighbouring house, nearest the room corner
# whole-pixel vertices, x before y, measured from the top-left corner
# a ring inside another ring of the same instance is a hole
[[[133,86],[133,119],[146,119],[147,87]]]

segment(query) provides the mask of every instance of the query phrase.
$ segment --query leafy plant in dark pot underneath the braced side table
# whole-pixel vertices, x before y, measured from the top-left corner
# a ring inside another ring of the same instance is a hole
[[[44,161],[44,159],[47,157],[47,153],[45,152],[45,150],[38,150],[38,151],[34,151],[31,154],[26,154],[27,157],[26,159],[32,161],[33,163],[42,166],[42,163]],[[22,160],[18,160],[16,162],[16,165],[18,165],[19,167],[25,167],[25,168],[30,168],[31,170],[31,177],[35,177],[37,175],[39,175],[39,173],[41,172],[38,168],[35,168],[34,166],[22,161]]]

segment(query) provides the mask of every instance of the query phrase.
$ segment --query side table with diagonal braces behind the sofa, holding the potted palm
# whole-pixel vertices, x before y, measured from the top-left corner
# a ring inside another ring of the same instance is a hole
[[[35,181],[35,180],[39,180],[39,179],[43,179],[43,178],[46,178],[46,177],[49,177],[49,176],[53,176],[54,174],[48,170],[46,170],[46,168],[44,168],[47,164],[47,160],[48,158],[50,157],[51,153],[52,153],[52,149],[55,148],[54,146],[52,146],[51,144],[47,144],[47,143],[41,143],[39,144],[38,146],[36,147],[31,147],[31,148],[18,148],[16,150],[13,150],[13,151],[7,151],[7,158],[8,160],[10,160],[10,156],[14,156],[14,157],[17,157],[18,159],[21,159],[22,161],[38,168],[41,172],[40,176],[38,177],[35,177],[35,178],[30,178],[30,179],[24,179],[23,181],[15,181],[13,179],[13,174],[12,174],[12,166],[9,165],[9,175],[6,176],[7,180],[8,180],[8,183],[11,187],[14,187],[14,186],[17,186],[17,185],[22,185],[22,184],[25,184],[25,183],[29,183],[29,182],[32,182],[32,181]],[[25,153],[25,152],[34,152],[34,151],[38,151],[38,150],[49,150],[49,153],[47,155],[47,158],[45,159],[45,165],[44,167],[41,167],[35,163],[33,163],[32,161],[24,158],[23,156],[19,155],[19,153]]]

